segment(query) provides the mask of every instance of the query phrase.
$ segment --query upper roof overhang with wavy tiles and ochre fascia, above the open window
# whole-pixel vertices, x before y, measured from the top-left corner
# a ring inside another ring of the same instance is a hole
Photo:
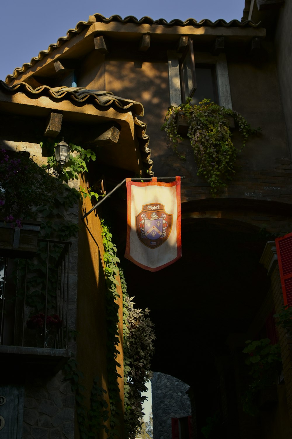
[[[47,51],[42,51],[39,56],[32,58],[32,61],[16,68],[13,75],[7,76],[6,82],[13,85],[20,81],[27,81],[31,76],[52,76],[56,74],[54,63],[60,60],[74,60],[83,58],[86,54],[95,49],[94,39],[96,36],[105,36],[112,41],[132,41],[139,47],[139,40],[143,35],[150,35],[151,41],[155,43],[168,44],[168,49],[176,47],[181,36],[188,36],[197,43],[212,43],[220,36],[226,40],[226,45],[236,46],[249,43],[254,37],[264,38],[266,31],[259,25],[252,22],[240,23],[237,20],[226,23],[218,20],[215,23],[203,20],[197,23],[193,19],[186,22],[173,20],[167,23],[163,20],[154,22],[151,18],[144,17],[137,20],[128,17],[124,20],[119,16],[109,19],[95,14],[89,17],[87,23],[80,22],[76,29],[70,29],[66,37],[62,37],[56,44],[51,44]]]

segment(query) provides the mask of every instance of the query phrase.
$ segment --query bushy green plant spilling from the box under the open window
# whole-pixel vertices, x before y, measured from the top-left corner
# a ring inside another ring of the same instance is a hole
[[[211,186],[211,194],[215,197],[219,187],[225,187],[234,174],[234,164],[238,150],[232,143],[229,119],[234,118],[235,126],[242,135],[242,146],[245,146],[250,134],[257,133],[246,119],[230,108],[220,107],[210,99],[204,99],[198,105],[191,105],[190,98],[179,107],[171,107],[165,116],[162,130],[165,130],[177,152],[179,140],[177,117],[184,116],[189,125],[187,136],[193,148],[197,162],[198,176],[204,176]],[[181,156],[181,158],[185,158]]]

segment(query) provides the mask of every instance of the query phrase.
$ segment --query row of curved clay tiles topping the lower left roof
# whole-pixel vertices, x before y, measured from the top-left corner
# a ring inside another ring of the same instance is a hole
[[[140,102],[131,101],[130,99],[124,99],[123,97],[115,96],[110,91],[101,90],[87,90],[82,87],[54,87],[51,88],[47,85],[43,85],[33,89],[27,83],[17,83],[13,86],[8,86],[0,80],[0,88],[9,93],[25,93],[25,94],[39,94],[40,96],[48,96],[59,101],[63,99],[69,99],[75,102],[95,103],[101,107],[116,107],[118,109],[129,110],[138,116],[144,115],[144,108]]]

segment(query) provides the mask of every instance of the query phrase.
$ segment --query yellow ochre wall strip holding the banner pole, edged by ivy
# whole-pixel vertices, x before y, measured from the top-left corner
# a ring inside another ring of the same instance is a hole
[[[86,183],[81,178],[81,186],[86,189]],[[89,197],[83,198],[80,209],[80,230],[78,248],[78,290],[77,290],[77,364],[78,369],[84,374],[83,384],[86,388],[88,407],[93,379],[99,377],[100,385],[107,391],[105,399],[109,403],[107,364],[106,364],[106,279],[103,262],[102,228],[100,219],[95,211],[91,212],[84,221],[81,216],[92,207]],[[117,281],[117,292],[120,297],[116,299],[119,305],[119,338],[118,350],[120,363],[118,373],[123,377],[123,298],[120,279]],[[123,426],[123,378],[118,378],[121,403],[120,419]],[[76,428],[77,431],[77,428]],[[121,437],[123,431],[120,432]],[[100,438],[106,438],[105,432],[100,433]]]

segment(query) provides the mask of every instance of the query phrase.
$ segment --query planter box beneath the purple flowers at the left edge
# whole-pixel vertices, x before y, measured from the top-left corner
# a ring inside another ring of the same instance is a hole
[[[23,221],[22,227],[0,220],[0,256],[32,258],[38,247],[39,222]]]

